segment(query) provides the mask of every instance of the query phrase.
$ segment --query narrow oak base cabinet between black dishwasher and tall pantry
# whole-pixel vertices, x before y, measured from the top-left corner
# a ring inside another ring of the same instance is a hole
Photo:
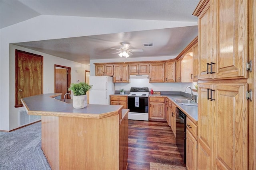
[[[186,130],[186,168],[197,169],[197,125],[187,117]]]

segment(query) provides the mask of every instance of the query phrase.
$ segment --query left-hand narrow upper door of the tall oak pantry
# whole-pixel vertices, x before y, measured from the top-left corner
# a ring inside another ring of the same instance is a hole
[[[200,79],[212,79],[210,66],[207,63],[214,62],[213,58],[213,10],[212,1],[209,1],[202,13],[198,16],[198,52],[199,52],[199,76]]]

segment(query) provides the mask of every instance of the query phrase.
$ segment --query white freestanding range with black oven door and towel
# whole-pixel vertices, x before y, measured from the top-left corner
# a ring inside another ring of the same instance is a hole
[[[145,120],[148,121],[148,88],[136,88],[130,89],[128,95],[128,119],[131,120]]]

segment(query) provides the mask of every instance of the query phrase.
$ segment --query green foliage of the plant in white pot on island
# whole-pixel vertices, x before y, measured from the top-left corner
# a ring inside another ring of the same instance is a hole
[[[92,88],[88,83],[71,83],[68,90],[71,90],[75,96],[86,95],[86,92]]]

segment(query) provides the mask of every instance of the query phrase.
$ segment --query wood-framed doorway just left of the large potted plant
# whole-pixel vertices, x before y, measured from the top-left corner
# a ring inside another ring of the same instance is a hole
[[[61,99],[64,99],[68,91],[68,87],[71,83],[71,68],[66,66],[60,66],[54,64],[54,92],[62,93]],[[70,96],[67,95],[67,99],[70,99]]]

